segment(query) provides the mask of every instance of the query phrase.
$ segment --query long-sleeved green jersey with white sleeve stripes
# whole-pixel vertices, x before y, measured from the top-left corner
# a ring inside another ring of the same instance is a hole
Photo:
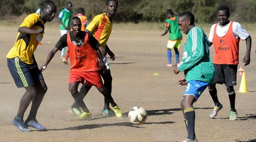
[[[199,80],[213,84],[214,66],[210,58],[208,38],[201,28],[195,26],[188,32],[178,69],[184,71],[187,81]]]

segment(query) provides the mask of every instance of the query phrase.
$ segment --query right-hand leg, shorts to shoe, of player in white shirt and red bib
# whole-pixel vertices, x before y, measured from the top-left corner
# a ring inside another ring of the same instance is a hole
[[[237,120],[237,111],[235,109],[236,92],[234,86],[237,80],[237,65],[226,65],[225,68],[225,85],[230,102],[230,117],[229,120]]]

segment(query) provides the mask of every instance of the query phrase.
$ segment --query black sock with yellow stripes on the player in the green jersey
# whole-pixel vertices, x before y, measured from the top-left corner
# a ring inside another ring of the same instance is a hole
[[[196,138],[195,134],[195,110],[193,107],[185,109],[184,114],[187,119],[187,131],[188,138],[194,140]]]

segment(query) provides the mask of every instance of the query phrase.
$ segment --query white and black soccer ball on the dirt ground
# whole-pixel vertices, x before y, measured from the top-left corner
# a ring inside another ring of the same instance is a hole
[[[143,107],[135,106],[129,111],[128,117],[134,125],[142,125],[147,120],[147,111]]]

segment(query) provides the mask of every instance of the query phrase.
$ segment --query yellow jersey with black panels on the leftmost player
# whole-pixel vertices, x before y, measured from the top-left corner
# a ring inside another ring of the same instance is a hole
[[[27,27],[30,29],[44,29],[44,21],[40,17],[40,13],[33,13],[28,15],[19,27]],[[22,62],[32,64],[33,53],[41,42],[43,34],[25,34],[18,32],[14,47],[8,52],[6,58],[12,59],[19,57]]]

